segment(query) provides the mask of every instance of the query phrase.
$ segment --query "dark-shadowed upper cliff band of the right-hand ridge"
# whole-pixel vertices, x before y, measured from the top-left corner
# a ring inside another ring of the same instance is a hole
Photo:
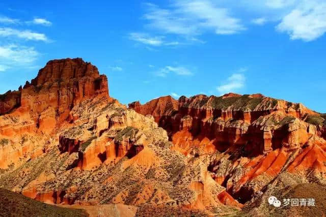
[[[302,130],[298,130],[302,134],[299,132],[295,136],[294,132],[297,131],[293,126],[300,123],[293,123],[288,129],[289,122],[294,118],[304,120],[307,115],[317,115],[302,104],[267,98],[261,94],[241,96],[230,93],[222,97],[197,95],[189,99],[181,97],[173,109],[168,105],[162,107],[165,104],[160,102],[165,102],[166,99],[167,97],[155,99],[144,106],[132,103],[129,108],[144,115],[155,115],[155,121],[168,131],[172,141],[179,141],[176,138],[180,135],[178,132],[188,131],[191,133],[188,143],[193,145],[196,138],[208,138],[210,141],[214,140],[217,150],[223,151],[233,145],[246,145],[252,152],[248,154],[253,156],[280,147],[281,143],[302,143],[295,140],[305,140],[303,136],[308,136],[305,133],[308,128],[313,133],[311,129],[315,127],[310,123],[302,123],[305,127],[299,127]],[[155,103],[160,103],[157,106],[160,108],[159,114],[153,109],[156,108]],[[291,141],[285,141],[286,139]],[[180,145],[188,147],[183,140],[181,143]]]

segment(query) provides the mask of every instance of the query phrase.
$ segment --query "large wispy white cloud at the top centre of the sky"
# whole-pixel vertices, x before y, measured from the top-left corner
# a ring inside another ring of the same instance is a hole
[[[240,19],[234,18],[226,8],[217,7],[213,1],[178,1],[169,9],[147,4],[144,18],[151,28],[167,34],[200,35],[204,32],[229,35],[246,29]]]

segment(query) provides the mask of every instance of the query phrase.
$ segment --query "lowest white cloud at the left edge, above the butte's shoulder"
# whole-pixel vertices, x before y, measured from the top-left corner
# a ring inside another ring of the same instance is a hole
[[[13,44],[0,46],[0,71],[14,67],[31,67],[38,56],[34,47]]]

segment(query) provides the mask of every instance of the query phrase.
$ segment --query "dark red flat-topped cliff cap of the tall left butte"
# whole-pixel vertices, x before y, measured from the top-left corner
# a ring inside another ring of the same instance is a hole
[[[1,95],[0,114],[21,106],[39,121],[38,115],[50,106],[66,118],[73,105],[99,95],[108,97],[107,78],[95,66],[81,58],[51,60],[23,89]]]

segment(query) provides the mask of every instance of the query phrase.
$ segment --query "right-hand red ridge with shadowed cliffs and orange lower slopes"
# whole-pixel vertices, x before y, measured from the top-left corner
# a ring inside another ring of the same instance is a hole
[[[171,101],[162,97],[129,108],[155,115],[171,149],[209,158],[211,177],[239,202],[260,197],[270,185],[289,185],[289,179],[326,184],[324,115],[260,94],[180,97],[174,107],[162,106]]]

